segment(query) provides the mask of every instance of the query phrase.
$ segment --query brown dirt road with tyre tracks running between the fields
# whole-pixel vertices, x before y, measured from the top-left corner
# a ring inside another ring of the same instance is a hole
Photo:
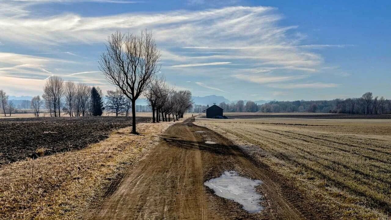
[[[283,179],[192,121],[167,129],[156,148],[118,187],[111,188],[103,204],[86,219],[318,219]],[[265,196],[263,211],[248,213],[203,185],[226,170],[264,182],[257,188]]]

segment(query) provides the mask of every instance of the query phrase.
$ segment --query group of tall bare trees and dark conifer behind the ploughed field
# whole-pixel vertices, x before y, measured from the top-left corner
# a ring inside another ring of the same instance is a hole
[[[34,114],[39,116],[42,104],[50,112],[50,117],[61,117],[61,112],[73,116],[98,116],[104,110],[102,90],[99,87],[90,87],[85,83],[65,82],[59,76],[47,79],[43,88],[43,100],[39,96],[33,97],[31,106]]]

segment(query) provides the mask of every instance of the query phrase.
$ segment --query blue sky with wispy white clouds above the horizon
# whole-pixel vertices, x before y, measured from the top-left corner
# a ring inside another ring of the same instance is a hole
[[[161,72],[195,96],[391,98],[390,1],[0,0],[0,88],[40,95],[51,75],[112,89],[107,36],[152,31]]]

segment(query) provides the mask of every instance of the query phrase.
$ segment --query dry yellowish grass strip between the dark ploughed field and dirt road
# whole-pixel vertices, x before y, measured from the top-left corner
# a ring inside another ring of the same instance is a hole
[[[173,123],[140,123],[83,150],[0,168],[0,219],[79,219],[111,180],[135,166]]]

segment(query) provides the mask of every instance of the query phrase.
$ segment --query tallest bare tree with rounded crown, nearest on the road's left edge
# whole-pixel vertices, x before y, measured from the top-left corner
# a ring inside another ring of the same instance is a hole
[[[160,51],[152,33],[111,34],[99,64],[106,79],[116,85],[132,102],[132,133],[136,132],[136,100],[153,76],[160,71]]]

